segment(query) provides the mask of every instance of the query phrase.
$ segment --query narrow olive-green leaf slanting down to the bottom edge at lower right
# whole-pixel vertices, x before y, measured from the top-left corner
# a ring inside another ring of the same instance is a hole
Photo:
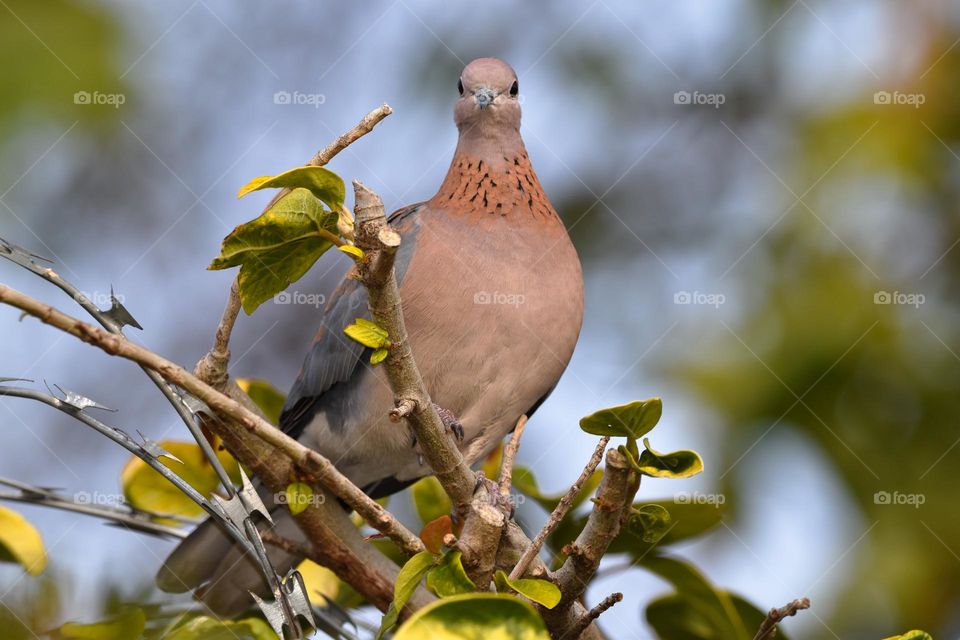
[[[677,558],[648,554],[640,560],[640,566],[670,582],[677,590],[677,595],[696,612],[700,626],[715,634],[690,637],[752,640],[756,629],[747,630],[730,594],[714,588],[693,565]],[[672,636],[661,637],[673,640]]]

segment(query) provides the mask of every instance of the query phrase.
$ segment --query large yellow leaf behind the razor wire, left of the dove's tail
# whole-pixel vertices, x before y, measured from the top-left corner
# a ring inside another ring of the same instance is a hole
[[[183,464],[169,458],[161,458],[160,462],[199,493],[209,496],[220,485],[213,467],[195,443],[162,440],[158,444],[182,460]],[[217,457],[230,477],[239,482],[239,467],[233,456],[226,451],[218,451]],[[135,456],[130,458],[120,472],[120,486],[123,487],[126,501],[138,509],[187,517],[203,514],[203,509],[197,503]]]

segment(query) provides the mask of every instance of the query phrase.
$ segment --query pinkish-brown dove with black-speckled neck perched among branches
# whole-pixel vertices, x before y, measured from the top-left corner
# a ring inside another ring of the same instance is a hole
[[[556,386],[583,321],[583,277],[520,135],[516,72],[480,58],[457,91],[459,139],[446,177],[389,223],[403,239],[396,273],[414,357],[450,437],[474,463]],[[344,335],[357,318],[370,318],[367,294],[348,274],[323,310],[280,428],[376,498],[431,470],[411,431],[388,417],[394,399],[382,367]],[[271,514],[281,535],[303,540],[286,507]],[[300,561],[270,554],[281,574]],[[157,582],[195,590],[220,615],[239,613],[248,591],[263,589],[255,565],[212,521],[173,551]]]

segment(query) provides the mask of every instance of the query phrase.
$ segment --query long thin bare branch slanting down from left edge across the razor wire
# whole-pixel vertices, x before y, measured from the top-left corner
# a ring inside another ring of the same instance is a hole
[[[179,365],[130,342],[122,335],[111,334],[82,322],[2,284],[0,284],[0,302],[35,316],[42,322],[99,347],[110,355],[132,360],[156,371],[167,382],[186,389],[205,402],[215,413],[236,421],[251,434],[280,450],[297,466],[315,474],[321,484],[354,508],[370,526],[390,537],[405,551],[417,553],[424,549],[423,542],[417,536],[337,471],[333,463],[283,433],[263,417],[249,411],[236,400],[197,379]]]

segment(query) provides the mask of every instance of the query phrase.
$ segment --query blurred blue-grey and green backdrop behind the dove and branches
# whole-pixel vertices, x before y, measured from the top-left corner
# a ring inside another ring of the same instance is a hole
[[[233,277],[205,267],[269,198],[238,187],[386,101],[396,113],[331,168],[388,207],[428,198],[459,70],[481,55],[519,73],[523,134],[586,277],[580,344],[521,462],[559,491],[592,449],[582,415],[662,396],[654,446],[697,449],[707,471],[640,495],[725,502],[680,548],[714,582],[761,608],[809,596],[794,637],[960,637],[956,2],[0,0],[0,236],[100,302],[113,285],[145,328],[128,333],[192,365]],[[329,291],[346,262],[291,290]],[[0,281],[70,308],[12,264]],[[233,372],[286,388],[317,314],[242,317]],[[187,437],[127,363],[10,309],[0,335],[0,375]],[[117,494],[125,452],[79,423],[3,399],[0,424],[0,475]],[[160,600],[170,543],[16,508],[51,569],[2,565],[0,594],[37,628]],[[643,606],[667,585],[610,571],[590,601],[613,590],[610,636],[652,637]]]

